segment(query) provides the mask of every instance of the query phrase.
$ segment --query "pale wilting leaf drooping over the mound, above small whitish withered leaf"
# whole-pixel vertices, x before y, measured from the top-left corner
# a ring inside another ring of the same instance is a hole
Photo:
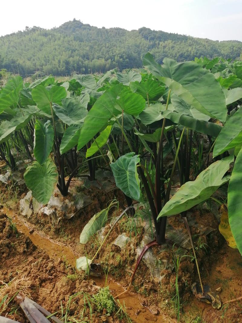
[[[96,214],[88,221],[80,234],[80,243],[86,244],[88,239],[100,230],[107,222],[108,209],[104,209]]]

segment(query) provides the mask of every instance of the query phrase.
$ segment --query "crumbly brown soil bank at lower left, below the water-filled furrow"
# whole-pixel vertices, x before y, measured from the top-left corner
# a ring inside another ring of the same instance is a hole
[[[66,260],[49,258],[2,212],[0,296],[5,302],[0,305],[0,315],[24,323],[24,313],[14,300],[19,291],[63,320],[66,315],[70,320],[95,323],[126,322],[122,311],[115,316],[118,307],[107,288],[96,286],[94,280],[86,281]]]

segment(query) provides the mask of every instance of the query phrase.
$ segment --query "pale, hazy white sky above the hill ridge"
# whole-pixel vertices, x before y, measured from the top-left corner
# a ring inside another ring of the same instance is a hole
[[[242,41],[242,0],[1,1],[0,36],[25,26],[81,20],[97,27],[147,27],[212,40]]]

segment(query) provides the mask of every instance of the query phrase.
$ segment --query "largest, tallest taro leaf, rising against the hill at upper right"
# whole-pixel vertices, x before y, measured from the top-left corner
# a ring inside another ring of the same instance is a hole
[[[144,66],[187,104],[212,118],[226,120],[225,96],[212,73],[195,62],[164,58],[163,63],[156,63],[150,53],[143,60]]]

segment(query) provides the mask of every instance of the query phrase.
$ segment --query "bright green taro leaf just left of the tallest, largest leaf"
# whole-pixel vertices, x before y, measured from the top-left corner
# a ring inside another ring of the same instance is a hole
[[[148,96],[149,101],[158,100],[166,89],[164,86],[160,86],[159,83],[152,78],[148,78],[147,81],[141,81],[140,83],[138,81],[130,82],[129,87],[133,92],[142,95],[146,100]]]

